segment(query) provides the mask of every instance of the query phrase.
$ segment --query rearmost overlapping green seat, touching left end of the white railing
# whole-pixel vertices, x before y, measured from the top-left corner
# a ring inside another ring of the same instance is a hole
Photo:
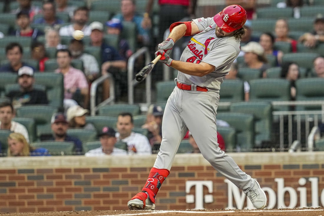
[[[255,147],[261,147],[263,141],[272,140],[272,106],[270,102],[235,102],[231,104],[230,111],[253,114]]]

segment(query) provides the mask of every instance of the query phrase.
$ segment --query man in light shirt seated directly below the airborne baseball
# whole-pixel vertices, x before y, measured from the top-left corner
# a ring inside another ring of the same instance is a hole
[[[92,82],[99,77],[99,65],[95,56],[84,52],[83,41],[72,39],[69,45],[69,50],[73,59],[80,59],[83,62],[84,74],[88,82]]]

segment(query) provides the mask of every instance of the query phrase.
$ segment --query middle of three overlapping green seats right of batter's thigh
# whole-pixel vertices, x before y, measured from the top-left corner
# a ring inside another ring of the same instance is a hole
[[[253,114],[224,112],[218,113],[216,118],[228,122],[230,126],[235,128],[237,145],[240,151],[252,151],[254,148]]]

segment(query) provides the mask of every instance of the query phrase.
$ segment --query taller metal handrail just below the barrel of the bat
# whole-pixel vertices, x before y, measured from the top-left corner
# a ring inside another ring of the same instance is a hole
[[[145,65],[148,65],[151,62],[151,56],[147,47],[142,47],[136,51],[131,57],[128,59],[127,63],[127,83],[128,83],[128,103],[134,103],[134,86],[138,84],[136,79],[134,78],[134,64],[135,59],[137,59],[140,55],[145,54]],[[148,74],[145,78],[145,93],[146,93],[146,103],[151,103],[151,74]]]

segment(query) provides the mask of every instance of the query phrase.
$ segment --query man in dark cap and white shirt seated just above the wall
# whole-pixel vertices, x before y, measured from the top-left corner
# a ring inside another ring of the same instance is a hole
[[[101,146],[97,149],[89,150],[85,156],[103,156],[103,155],[127,155],[127,151],[115,147],[117,138],[116,132],[111,127],[103,127],[100,137]]]

